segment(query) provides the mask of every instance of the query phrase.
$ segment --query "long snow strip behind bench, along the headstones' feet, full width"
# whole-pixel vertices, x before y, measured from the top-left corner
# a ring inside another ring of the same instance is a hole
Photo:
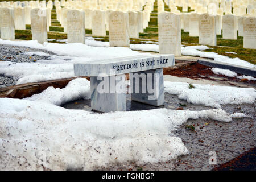
[[[130,49],[127,47],[109,47],[109,42],[96,41],[94,38],[85,39],[86,44],[71,43],[71,44],[57,44],[57,43],[44,43],[39,44],[36,40],[29,41],[10,41],[0,39],[0,44],[10,44],[14,46],[24,46],[31,48],[38,48],[56,53],[57,55],[64,56],[77,56],[87,57],[93,59],[111,59],[113,57],[123,56],[135,56],[141,53],[133,51],[152,51],[158,52],[159,47],[157,44],[130,44]],[[132,50],[131,50],[132,49]],[[234,65],[240,65],[243,67],[256,68],[256,65],[251,64],[245,60],[241,60],[238,57],[230,58],[228,56],[218,55],[215,52],[204,52],[204,50],[210,49],[207,46],[181,46],[182,55],[187,56],[200,56],[213,58],[215,61],[222,63],[229,63]]]

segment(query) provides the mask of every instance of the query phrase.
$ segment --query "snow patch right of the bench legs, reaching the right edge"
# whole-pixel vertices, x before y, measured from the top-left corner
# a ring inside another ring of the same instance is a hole
[[[175,94],[192,104],[221,108],[225,104],[253,104],[256,98],[254,88],[193,84],[189,89],[185,82],[164,82],[164,92]]]

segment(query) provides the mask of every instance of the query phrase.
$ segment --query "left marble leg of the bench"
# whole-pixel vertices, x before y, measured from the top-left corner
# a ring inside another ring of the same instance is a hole
[[[98,77],[96,76],[90,77],[92,110],[104,113],[110,111],[126,111],[126,92],[117,93],[115,92],[116,89],[113,88],[118,83],[120,84],[120,81],[125,82],[125,80],[115,80],[116,76],[107,76],[104,77],[102,80],[97,80],[97,78]],[[109,92],[100,93],[98,92],[98,86],[102,86],[102,81],[104,81],[104,79],[108,80]],[[112,84],[110,84],[110,80],[112,80]]]

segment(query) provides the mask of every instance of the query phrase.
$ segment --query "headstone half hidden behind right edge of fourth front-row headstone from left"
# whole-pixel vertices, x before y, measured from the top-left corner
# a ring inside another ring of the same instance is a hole
[[[130,38],[139,38],[138,13],[135,11],[129,11],[129,33]]]

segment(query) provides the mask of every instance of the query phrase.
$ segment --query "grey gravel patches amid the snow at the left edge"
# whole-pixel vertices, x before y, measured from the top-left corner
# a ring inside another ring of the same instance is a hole
[[[10,46],[0,44],[0,61],[11,61],[13,63],[22,63],[22,62],[33,62],[35,60],[47,59],[49,56],[38,56],[38,55],[24,55],[24,52],[45,52],[48,54],[54,55],[54,53],[49,51],[44,51],[41,49],[28,48],[28,47],[20,47],[20,46]],[[0,88],[6,86],[15,85],[18,79],[12,76],[6,76],[0,74]]]

